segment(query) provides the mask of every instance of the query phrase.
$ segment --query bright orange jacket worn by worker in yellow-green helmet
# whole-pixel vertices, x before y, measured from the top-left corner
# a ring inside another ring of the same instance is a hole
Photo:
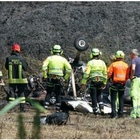
[[[129,78],[128,64],[121,60],[113,62],[108,67],[108,78],[111,78],[113,83],[125,83]]]

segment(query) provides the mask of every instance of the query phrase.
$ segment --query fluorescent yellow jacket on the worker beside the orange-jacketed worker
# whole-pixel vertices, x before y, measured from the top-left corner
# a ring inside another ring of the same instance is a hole
[[[87,63],[81,83],[86,84],[87,80],[107,82],[107,67],[104,61],[92,59]]]

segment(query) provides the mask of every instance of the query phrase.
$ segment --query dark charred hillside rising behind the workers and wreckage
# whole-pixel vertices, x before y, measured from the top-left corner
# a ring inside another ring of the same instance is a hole
[[[24,55],[39,60],[50,54],[54,44],[72,55],[78,36],[107,55],[118,49],[128,54],[140,45],[138,1],[0,2],[0,13],[2,59],[13,43],[21,44]]]

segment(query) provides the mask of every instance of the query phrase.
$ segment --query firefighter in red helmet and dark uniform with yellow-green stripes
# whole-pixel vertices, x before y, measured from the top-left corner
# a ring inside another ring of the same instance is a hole
[[[22,97],[20,102],[20,111],[25,112],[25,95],[24,91],[27,86],[27,78],[25,72],[28,68],[28,63],[21,56],[21,48],[19,44],[12,46],[12,53],[6,58],[5,68],[8,70],[9,80],[9,103],[18,97]]]

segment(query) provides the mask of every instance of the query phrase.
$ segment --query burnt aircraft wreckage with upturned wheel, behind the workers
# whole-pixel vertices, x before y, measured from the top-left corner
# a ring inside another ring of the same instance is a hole
[[[70,76],[68,83],[64,83],[63,81],[62,83],[60,83],[62,84],[62,92],[63,92],[61,97],[62,101],[61,108],[65,108],[71,111],[92,113],[93,111],[91,107],[91,98],[89,95],[90,85],[87,85],[85,91],[80,91],[80,81],[82,78],[82,74],[86,68],[86,64],[83,61],[80,61],[80,54],[88,49],[88,41],[84,37],[76,38],[74,41],[74,47],[77,50],[76,57],[74,59],[69,58],[69,62],[73,69],[72,75]],[[8,97],[9,96],[8,87],[5,86],[2,87]],[[125,88],[126,89],[124,102],[131,103],[131,99],[129,96],[130,81],[126,83]],[[28,78],[25,96],[29,97],[32,100],[39,101],[40,104],[43,105],[46,94],[47,94],[46,81],[43,81],[40,75],[39,76],[31,75]],[[56,102],[55,95],[52,94],[50,104],[54,105],[55,102]],[[105,114],[110,113],[111,107],[108,93],[103,94],[103,102],[104,102],[104,113]],[[53,116],[57,115],[58,114],[56,113]],[[44,120],[44,117],[42,117],[42,120]]]

